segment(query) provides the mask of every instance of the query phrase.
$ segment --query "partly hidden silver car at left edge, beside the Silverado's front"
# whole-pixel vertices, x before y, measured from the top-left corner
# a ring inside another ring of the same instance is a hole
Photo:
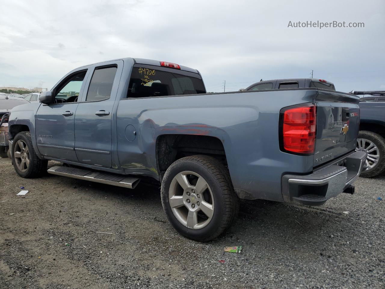
[[[8,152],[8,114],[17,105],[28,103],[19,97],[8,97],[7,94],[0,94],[0,157],[10,157]],[[4,118],[3,118],[4,117]]]

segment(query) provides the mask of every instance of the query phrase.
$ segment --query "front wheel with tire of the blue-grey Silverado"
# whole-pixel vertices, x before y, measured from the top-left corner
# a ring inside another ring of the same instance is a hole
[[[36,178],[47,171],[48,161],[37,157],[28,131],[18,133],[13,139],[12,162],[15,171],[23,178]]]

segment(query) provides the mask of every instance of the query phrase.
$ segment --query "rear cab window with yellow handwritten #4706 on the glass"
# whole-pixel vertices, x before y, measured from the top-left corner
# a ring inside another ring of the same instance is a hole
[[[170,96],[206,93],[198,73],[169,67],[135,64],[127,97]]]

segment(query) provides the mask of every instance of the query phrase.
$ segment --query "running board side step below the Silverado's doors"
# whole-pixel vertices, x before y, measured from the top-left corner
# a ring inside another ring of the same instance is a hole
[[[79,180],[94,181],[117,187],[134,189],[141,180],[133,176],[105,173],[101,171],[91,171],[80,168],[71,168],[68,166],[53,166],[47,170],[47,173],[58,176],[68,176]]]

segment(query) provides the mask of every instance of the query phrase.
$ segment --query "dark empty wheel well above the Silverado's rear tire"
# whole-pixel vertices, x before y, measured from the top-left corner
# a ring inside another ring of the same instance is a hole
[[[164,134],[156,142],[157,166],[162,179],[167,168],[185,156],[209,155],[227,166],[226,154],[220,139],[214,136]]]

